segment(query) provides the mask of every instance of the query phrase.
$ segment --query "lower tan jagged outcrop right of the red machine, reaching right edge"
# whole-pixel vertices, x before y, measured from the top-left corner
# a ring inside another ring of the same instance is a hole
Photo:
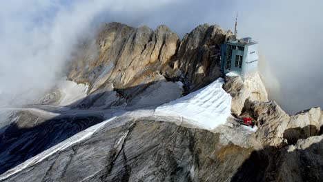
[[[274,101],[246,101],[242,117],[251,117],[258,130],[255,137],[264,146],[282,147],[293,145],[300,139],[322,134],[322,114],[320,108],[299,112],[289,116]]]

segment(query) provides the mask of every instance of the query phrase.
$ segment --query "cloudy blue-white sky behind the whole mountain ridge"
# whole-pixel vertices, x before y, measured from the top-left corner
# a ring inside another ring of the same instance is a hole
[[[26,90],[37,94],[50,87],[61,76],[77,39],[95,23],[119,21],[151,28],[166,24],[182,37],[202,23],[232,29],[238,11],[239,35],[260,41],[266,70],[270,67],[280,83],[280,90],[271,92],[273,99],[289,112],[323,106],[322,7],[320,0],[2,2],[0,92],[21,96]]]

